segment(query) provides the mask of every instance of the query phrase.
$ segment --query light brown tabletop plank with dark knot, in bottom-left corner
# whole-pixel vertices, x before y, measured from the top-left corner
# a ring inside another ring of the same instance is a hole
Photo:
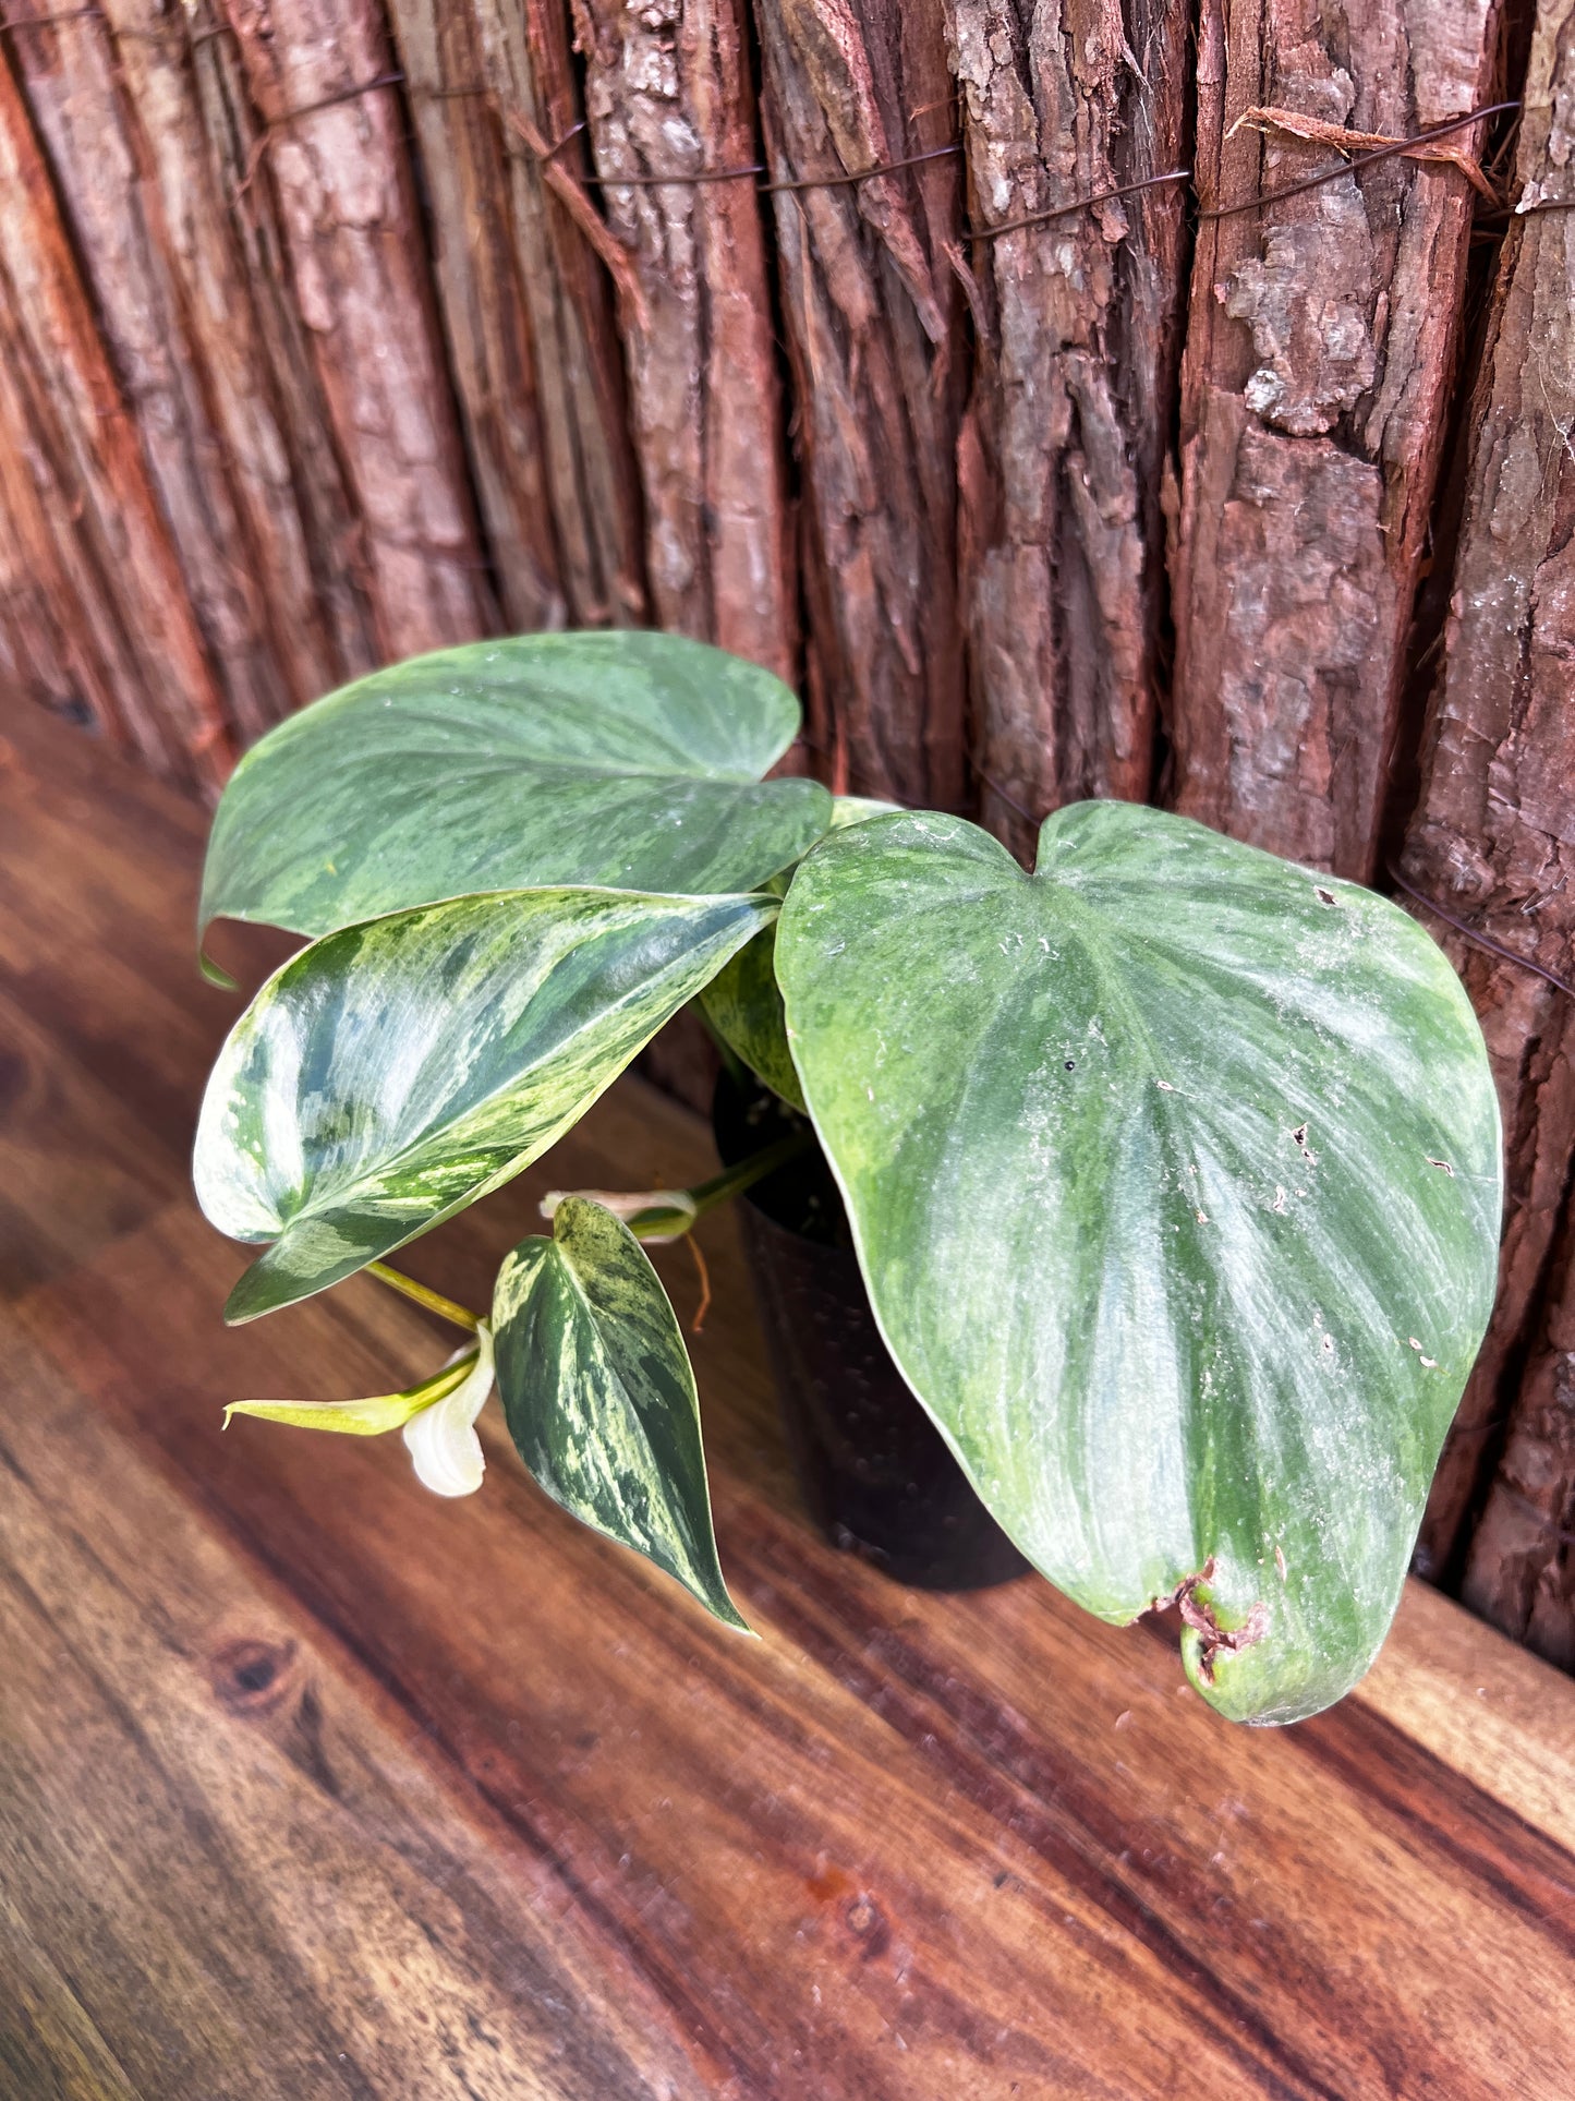
[[[456,1813],[407,1717],[57,1368],[10,1364],[4,1885],[132,2086],[645,2093],[638,1979],[586,1977],[550,1878]]]

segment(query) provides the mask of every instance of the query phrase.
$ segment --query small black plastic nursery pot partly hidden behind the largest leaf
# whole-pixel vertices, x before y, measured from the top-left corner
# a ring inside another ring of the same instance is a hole
[[[804,1118],[722,1072],[712,1109],[724,1166]],[[1012,1546],[890,1359],[853,1252],[842,1195],[808,1147],[739,1202],[743,1248],[811,1517],[832,1542],[924,1590],[1023,1576]]]

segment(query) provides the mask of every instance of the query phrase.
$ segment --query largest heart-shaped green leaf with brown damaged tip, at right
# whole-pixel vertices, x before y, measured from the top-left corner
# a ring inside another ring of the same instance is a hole
[[[1392,903],[1082,803],[1033,876],[949,817],[827,838],[777,929],[876,1315],[981,1496],[1199,1689],[1289,1721],[1394,1614],[1493,1301],[1499,1120]]]

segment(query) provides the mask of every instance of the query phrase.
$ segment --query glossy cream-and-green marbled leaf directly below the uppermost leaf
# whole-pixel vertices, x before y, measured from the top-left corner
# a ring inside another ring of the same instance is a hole
[[[231,1029],[197,1126],[202,1208],[273,1240],[227,1319],[336,1284],[529,1166],[775,912],[506,891],[292,956]]]

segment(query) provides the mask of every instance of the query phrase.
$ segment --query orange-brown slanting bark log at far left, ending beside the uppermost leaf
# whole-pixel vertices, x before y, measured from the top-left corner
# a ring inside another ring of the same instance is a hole
[[[229,765],[218,689],[4,53],[0,368],[19,662],[44,698],[80,681],[80,700],[155,771],[216,788]],[[46,626],[38,582],[61,588]]]

